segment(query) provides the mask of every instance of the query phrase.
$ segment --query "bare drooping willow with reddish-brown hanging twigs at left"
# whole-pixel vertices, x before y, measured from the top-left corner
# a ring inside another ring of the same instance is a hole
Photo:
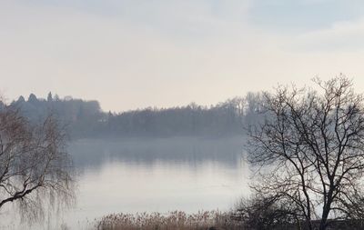
[[[0,209],[13,203],[26,217],[38,218],[45,202],[73,200],[65,140],[53,116],[32,125],[14,108],[0,109]]]

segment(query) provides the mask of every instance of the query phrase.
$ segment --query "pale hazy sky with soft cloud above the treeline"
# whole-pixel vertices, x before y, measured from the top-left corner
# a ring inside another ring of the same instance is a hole
[[[364,90],[361,0],[0,0],[8,100],[210,105],[341,72]]]

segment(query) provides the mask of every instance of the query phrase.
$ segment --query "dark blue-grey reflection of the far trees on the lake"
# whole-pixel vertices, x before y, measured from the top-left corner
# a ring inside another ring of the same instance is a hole
[[[239,164],[237,156],[242,156],[243,141],[241,136],[219,139],[86,139],[73,143],[69,149],[77,168],[97,168],[115,160],[143,165],[153,165],[156,161],[198,165],[214,160],[233,166]]]

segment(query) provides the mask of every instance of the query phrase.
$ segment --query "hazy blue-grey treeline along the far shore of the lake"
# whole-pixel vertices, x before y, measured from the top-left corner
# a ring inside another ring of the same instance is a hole
[[[84,137],[136,136],[227,136],[242,135],[244,125],[257,120],[260,110],[258,93],[235,97],[217,105],[192,103],[171,108],[137,109],[122,113],[104,112],[97,101],[71,96],[59,98],[48,94],[46,99],[34,94],[20,96],[11,106],[18,108],[32,121],[40,121],[50,113],[69,129],[70,135]]]

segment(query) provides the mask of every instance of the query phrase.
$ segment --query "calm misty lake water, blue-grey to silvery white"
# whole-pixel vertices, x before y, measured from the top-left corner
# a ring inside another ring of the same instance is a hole
[[[228,210],[248,194],[242,137],[80,140],[69,152],[76,207],[35,229],[63,223],[86,229],[95,218],[120,212]]]

